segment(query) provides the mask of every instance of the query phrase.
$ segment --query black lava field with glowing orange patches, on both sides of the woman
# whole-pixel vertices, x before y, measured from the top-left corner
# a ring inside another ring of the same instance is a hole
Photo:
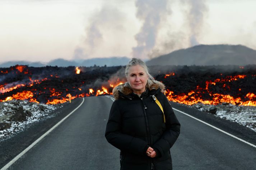
[[[166,85],[166,96],[173,102],[256,106],[256,66],[238,68],[239,73],[219,73],[209,67],[211,73],[206,67],[190,70],[192,67],[186,66],[168,74],[156,71],[155,78]],[[109,95],[115,86],[126,81],[125,77],[116,76],[120,70],[124,67],[0,68],[0,102],[20,99],[58,104],[78,97]]]

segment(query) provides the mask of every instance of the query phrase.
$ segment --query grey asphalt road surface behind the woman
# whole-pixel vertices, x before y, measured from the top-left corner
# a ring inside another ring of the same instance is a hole
[[[8,169],[120,169],[119,150],[104,137],[112,102],[105,96],[85,98],[78,110]],[[171,149],[174,170],[256,169],[255,147],[174,112],[181,123],[180,137]]]

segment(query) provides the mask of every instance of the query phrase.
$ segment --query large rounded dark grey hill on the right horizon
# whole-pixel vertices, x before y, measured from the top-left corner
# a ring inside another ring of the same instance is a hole
[[[147,65],[256,64],[256,50],[243,45],[197,45],[176,50],[146,62]]]

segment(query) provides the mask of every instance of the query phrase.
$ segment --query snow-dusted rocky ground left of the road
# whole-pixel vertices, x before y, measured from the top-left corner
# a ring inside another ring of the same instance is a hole
[[[62,105],[46,105],[25,100],[0,102],[0,140],[24,130],[24,128],[43,118]]]

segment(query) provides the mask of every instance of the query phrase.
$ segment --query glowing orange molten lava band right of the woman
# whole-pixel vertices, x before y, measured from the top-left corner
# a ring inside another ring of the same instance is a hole
[[[194,105],[196,103],[203,103],[207,105],[231,103],[233,105],[256,106],[255,93],[248,92],[244,95],[241,93],[241,80],[245,79],[246,77],[246,75],[235,75],[226,76],[225,78],[217,78],[213,81],[205,81],[203,86],[204,88],[197,86],[196,89],[188,91],[187,93],[175,94],[173,91],[167,89],[166,96],[170,101],[183,103],[186,105]],[[249,77],[255,79],[256,75],[250,75]],[[241,86],[236,87],[236,81],[240,81],[238,85],[240,84]],[[218,91],[223,91],[221,88],[225,89],[225,93],[230,90],[235,90],[233,93],[236,93],[236,96],[232,96],[231,94],[216,93],[216,89],[218,89]],[[246,91],[246,89],[243,91]],[[239,93],[240,95],[237,95]]]

